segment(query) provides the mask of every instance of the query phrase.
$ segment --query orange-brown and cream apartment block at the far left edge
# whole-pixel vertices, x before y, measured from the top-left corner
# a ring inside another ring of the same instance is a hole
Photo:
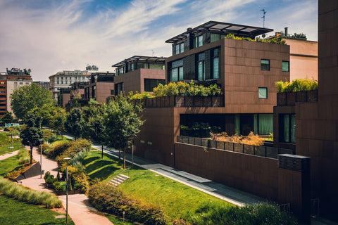
[[[18,68],[6,69],[6,72],[0,74],[0,117],[11,112],[11,94],[20,86],[32,83],[32,77],[25,74],[25,70]]]

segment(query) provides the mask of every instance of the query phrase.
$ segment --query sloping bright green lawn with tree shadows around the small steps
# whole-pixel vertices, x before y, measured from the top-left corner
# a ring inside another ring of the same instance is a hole
[[[101,159],[101,151],[92,151],[84,160],[84,166],[91,179],[99,178],[108,181],[122,171],[123,165],[118,165],[115,159],[106,154],[104,154],[104,159]],[[218,202],[229,207],[233,206],[146,169],[134,167],[123,174],[130,176],[130,179],[121,184],[119,188],[132,198],[161,207],[169,221],[182,217],[184,211],[194,210],[203,202]]]

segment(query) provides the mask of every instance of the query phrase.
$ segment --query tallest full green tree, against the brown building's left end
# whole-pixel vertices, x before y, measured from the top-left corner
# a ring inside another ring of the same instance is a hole
[[[142,105],[126,96],[119,95],[108,103],[104,122],[106,125],[106,143],[120,151],[123,150],[123,167],[125,168],[125,150],[132,145],[132,140],[139,133],[144,120]]]

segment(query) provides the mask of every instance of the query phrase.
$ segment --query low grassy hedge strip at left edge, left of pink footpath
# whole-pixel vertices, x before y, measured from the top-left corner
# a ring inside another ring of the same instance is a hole
[[[48,208],[61,207],[61,200],[56,195],[46,192],[33,191],[0,177],[0,193],[35,205],[45,205]]]

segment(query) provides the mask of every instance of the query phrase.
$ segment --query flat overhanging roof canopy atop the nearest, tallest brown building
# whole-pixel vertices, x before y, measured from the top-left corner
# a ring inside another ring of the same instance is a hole
[[[237,34],[243,35],[244,37],[251,37],[254,38],[258,35],[265,34],[268,32],[272,32],[273,29],[263,28],[263,27],[251,27],[246,25],[238,25],[233,23],[222,23],[216,21],[209,21],[202,25],[199,25],[195,28],[188,28],[186,32],[172,37],[165,41],[165,43],[175,43],[177,41],[181,41],[187,38],[187,34],[197,34],[199,32],[203,32],[204,30],[209,30],[215,33],[222,33],[222,34]]]

